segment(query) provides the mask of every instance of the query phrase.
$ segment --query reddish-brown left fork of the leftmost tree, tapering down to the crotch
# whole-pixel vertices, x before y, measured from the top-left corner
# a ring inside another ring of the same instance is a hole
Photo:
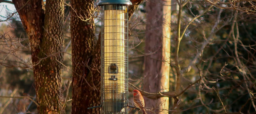
[[[43,4],[39,0],[13,0],[13,3],[29,37],[32,62],[36,63],[39,60],[37,55],[40,52],[39,45],[44,31],[45,11],[42,9]]]

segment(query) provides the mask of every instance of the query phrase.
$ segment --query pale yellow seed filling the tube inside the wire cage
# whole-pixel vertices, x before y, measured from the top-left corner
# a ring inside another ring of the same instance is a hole
[[[105,99],[123,99],[125,92],[125,11],[104,11]]]

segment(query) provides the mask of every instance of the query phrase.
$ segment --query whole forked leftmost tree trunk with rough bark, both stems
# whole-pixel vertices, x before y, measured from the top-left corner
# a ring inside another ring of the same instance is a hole
[[[61,92],[64,0],[13,0],[28,34],[39,114],[65,114]]]

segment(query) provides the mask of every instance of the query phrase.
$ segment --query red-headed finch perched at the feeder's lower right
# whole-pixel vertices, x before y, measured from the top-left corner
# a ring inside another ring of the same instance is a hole
[[[143,114],[147,114],[145,111],[145,103],[141,93],[138,90],[134,90],[134,104],[141,109]]]

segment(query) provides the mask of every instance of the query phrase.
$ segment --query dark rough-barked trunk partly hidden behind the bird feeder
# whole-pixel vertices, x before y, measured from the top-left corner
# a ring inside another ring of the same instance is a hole
[[[129,16],[142,0],[131,2]],[[100,36],[95,45],[93,0],[71,0],[71,7],[72,114],[100,114],[100,108],[87,109],[100,106]]]

